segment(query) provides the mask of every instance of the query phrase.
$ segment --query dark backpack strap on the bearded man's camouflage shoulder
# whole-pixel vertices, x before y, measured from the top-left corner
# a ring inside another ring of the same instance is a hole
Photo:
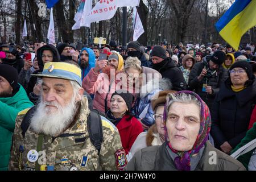
[[[87,117],[87,128],[90,137],[90,142],[97,148],[98,154],[100,154],[101,143],[103,140],[102,123],[99,114],[94,111],[90,111]]]

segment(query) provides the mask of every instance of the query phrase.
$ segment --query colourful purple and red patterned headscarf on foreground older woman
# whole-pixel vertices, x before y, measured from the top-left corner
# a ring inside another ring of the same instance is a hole
[[[194,92],[184,90],[177,92],[175,94],[180,94],[180,93],[185,93],[185,94],[191,94],[195,96],[201,103],[201,122],[200,122],[200,130],[199,134],[197,135],[196,142],[194,143],[193,147],[189,151],[181,152],[181,151],[176,151],[174,148],[172,148],[171,143],[168,142],[168,134],[167,134],[167,129],[166,126],[164,127],[166,130],[166,140],[167,140],[167,146],[171,149],[174,154],[177,154],[176,158],[174,159],[175,166],[177,170],[179,171],[190,171],[191,170],[191,158],[194,154],[198,154],[200,149],[204,147],[205,142],[208,140],[208,136],[210,133],[210,126],[211,126],[211,119],[210,119],[210,112],[208,106],[205,104],[203,100]],[[167,120],[167,105],[168,102],[166,102],[166,105],[164,106],[164,114],[163,114],[163,119],[166,122]]]

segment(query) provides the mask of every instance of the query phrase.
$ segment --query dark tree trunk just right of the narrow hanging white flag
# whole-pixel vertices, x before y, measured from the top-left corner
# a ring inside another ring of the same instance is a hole
[[[144,28],[144,33],[139,37],[138,42],[141,43],[143,46],[147,46],[147,15],[148,15],[148,8],[143,3],[143,0],[139,2],[139,7],[137,8],[139,18],[141,18],[141,22]]]

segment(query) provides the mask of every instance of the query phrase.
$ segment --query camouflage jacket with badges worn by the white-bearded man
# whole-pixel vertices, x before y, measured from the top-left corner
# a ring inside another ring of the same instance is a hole
[[[82,99],[79,119],[73,127],[55,139],[41,134],[41,151],[36,151],[39,134],[31,127],[24,138],[22,136],[20,124],[28,110],[20,111],[16,118],[10,170],[116,170],[126,165],[118,130],[107,119],[101,117],[103,141],[100,154],[90,142],[86,123],[90,110],[86,98]]]

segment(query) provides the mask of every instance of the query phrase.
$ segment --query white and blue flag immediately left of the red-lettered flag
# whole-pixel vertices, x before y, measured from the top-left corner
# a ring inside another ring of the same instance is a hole
[[[77,10],[77,13],[75,15],[74,20],[76,21],[76,23],[73,25],[72,30],[77,30],[81,26],[90,27],[90,23],[85,23],[84,20],[86,16],[90,14],[91,10],[92,0],[82,0],[79,9]]]

